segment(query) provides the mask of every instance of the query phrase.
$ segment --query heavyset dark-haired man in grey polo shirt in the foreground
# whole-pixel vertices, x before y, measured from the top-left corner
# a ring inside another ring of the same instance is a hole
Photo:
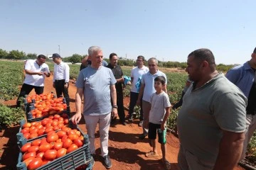
[[[188,55],[186,72],[193,84],[178,113],[178,166],[183,169],[232,170],[245,139],[247,99],[215,67],[213,53],[199,49]]]

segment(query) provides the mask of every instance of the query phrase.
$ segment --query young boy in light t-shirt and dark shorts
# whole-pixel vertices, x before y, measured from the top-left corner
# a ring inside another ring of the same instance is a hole
[[[156,93],[151,95],[151,110],[149,112],[149,139],[153,151],[147,152],[146,157],[158,157],[156,151],[156,131],[158,133],[158,142],[161,144],[162,159],[165,169],[171,169],[171,164],[166,160],[166,120],[170,115],[171,103],[168,94],[162,89],[166,84],[164,77],[159,76],[154,79],[154,89]]]

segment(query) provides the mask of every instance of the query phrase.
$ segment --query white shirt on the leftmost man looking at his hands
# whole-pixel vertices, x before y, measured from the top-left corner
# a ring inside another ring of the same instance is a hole
[[[49,67],[46,63],[41,64],[39,66],[36,60],[28,60],[25,64],[25,69],[28,69],[32,72],[50,72]],[[44,86],[44,79],[46,75],[39,76],[38,74],[30,75],[26,74],[24,84],[32,85],[32,86]]]

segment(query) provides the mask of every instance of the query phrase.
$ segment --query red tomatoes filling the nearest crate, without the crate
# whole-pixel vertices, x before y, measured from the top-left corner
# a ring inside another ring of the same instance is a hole
[[[23,145],[22,161],[28,169],[37,169],[82,147],[83,142],[84,137],[79,130],[63,126],[58,132],[50,131],[46,137]]]

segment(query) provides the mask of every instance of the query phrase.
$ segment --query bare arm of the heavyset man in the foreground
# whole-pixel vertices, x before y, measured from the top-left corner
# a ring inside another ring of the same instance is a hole
[[[244,140],[244,132],[223,130],[223,137],[220,140],[219,153],[213,170],[234,169],[241,157]]]

